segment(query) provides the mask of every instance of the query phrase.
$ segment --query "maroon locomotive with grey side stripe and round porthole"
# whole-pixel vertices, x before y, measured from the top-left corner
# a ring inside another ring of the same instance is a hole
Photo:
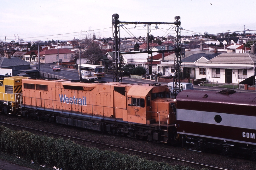
[[[255,110],[255,93],[184,90],[177,95],[177,133],[199,149],[255,156]]]

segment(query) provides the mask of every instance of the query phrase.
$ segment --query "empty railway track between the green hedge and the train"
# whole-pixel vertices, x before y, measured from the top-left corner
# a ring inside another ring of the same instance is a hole
[[[209,165],[209,164],[205,164],[205,163],[200,163],[200,162],[196,162],[196,161],[190,161],[190,160],[180,159],[180,158],[171,157],[171,156],[159,155],[159,154],[155,154],[155,153],[145,152],[145,151],[142,151],[142,150],[135,150],[135,149],[127,148],[127,147],[122,147],[122,146],[113,145],[113,144],[107,144],[107,143],[98,142],[98,141],[94,141],[94,140],[82,139],[82,138],[69,136],[69,135],[64,135],[64,134],[60,134],[60,133],[53,133],[53,132],[49,132],[49,131],[45,131],[45,130],[32,128],[32,127],[17,125],[17,124],[14,124],[14,123],[9,123],[9,122],[0,122],[0,123],[6,124],[6,125],[12,125],[12,126],[16,126],[16,127],[21,127],[21,128],[25,128],[25,129],[30,129],[30,130],[33,130],[33,131],[48,133],[48,134],[52,134],[52,135],[56,135],[56,136],[66,137],[66,138],[69,138],[69,139],[77,139],[77,140],[81,140],[81,141],[92,142],[92,143],[95,143],[95,144],[101,144],[101,145],[105,145],[105,146],[109,146],[109,147],[114,147],[114,148],[118,148],[118,149],[122,149],[122,150],[133,151],[133,152],[137,152],[137,153],[141,153],[141,154],[146,154],[148,156],[156,156],[156,157],[164,158],[164,159],[167,159],[167,160],[175,160],[175,161],[185,162],[185,163],[188,163],[188,164],[193,164],[193,165],[202,166],[202,167],[206,167],[206,168],[219,169],[219,170],[231,170],[231,169],[228,169],[228,168],[218,167],[218,166]]]

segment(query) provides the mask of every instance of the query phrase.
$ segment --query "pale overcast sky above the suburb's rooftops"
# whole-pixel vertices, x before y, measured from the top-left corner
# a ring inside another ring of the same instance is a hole
[[[112,37],[112,15],[122,21],[174,22],[181,35],[256,30],[256,1],[247,0],[1,0],[0,39],[10,42]],[[152,26],[152,35],[174,36],[172,25]],[[188,31],[187,31],[188,30]],[[90,31],[90,32],[89,32]],[[249,31],[247,31],[250,33]],[[256,31],[251,31],[254,33]],[[237,32],[238,33],[238,32]],[[242,32],[240,32],[242,33]],[[120,27],[120,37],[147,35],[144,25]],[[87,37],[87,38],[88,38]]]

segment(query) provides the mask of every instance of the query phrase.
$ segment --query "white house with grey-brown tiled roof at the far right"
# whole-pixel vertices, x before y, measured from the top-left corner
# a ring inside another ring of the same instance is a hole
[[[197,78],[206,77],[209,82],[239,83],[255,75],[256,53],[222,53],[204,64],[197,64]],[[202,72],[204,71],[204,72]]]

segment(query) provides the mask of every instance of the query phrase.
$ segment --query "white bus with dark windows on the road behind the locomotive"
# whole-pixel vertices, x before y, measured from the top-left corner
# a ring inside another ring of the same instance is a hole
[[[80,65],[78,65],[78,73],[80,71]],[[81,64],[82,71],[94,71],[94,75],[98,78],[105,77],[104,66],[103,65],[91,65],[91,64]]]

